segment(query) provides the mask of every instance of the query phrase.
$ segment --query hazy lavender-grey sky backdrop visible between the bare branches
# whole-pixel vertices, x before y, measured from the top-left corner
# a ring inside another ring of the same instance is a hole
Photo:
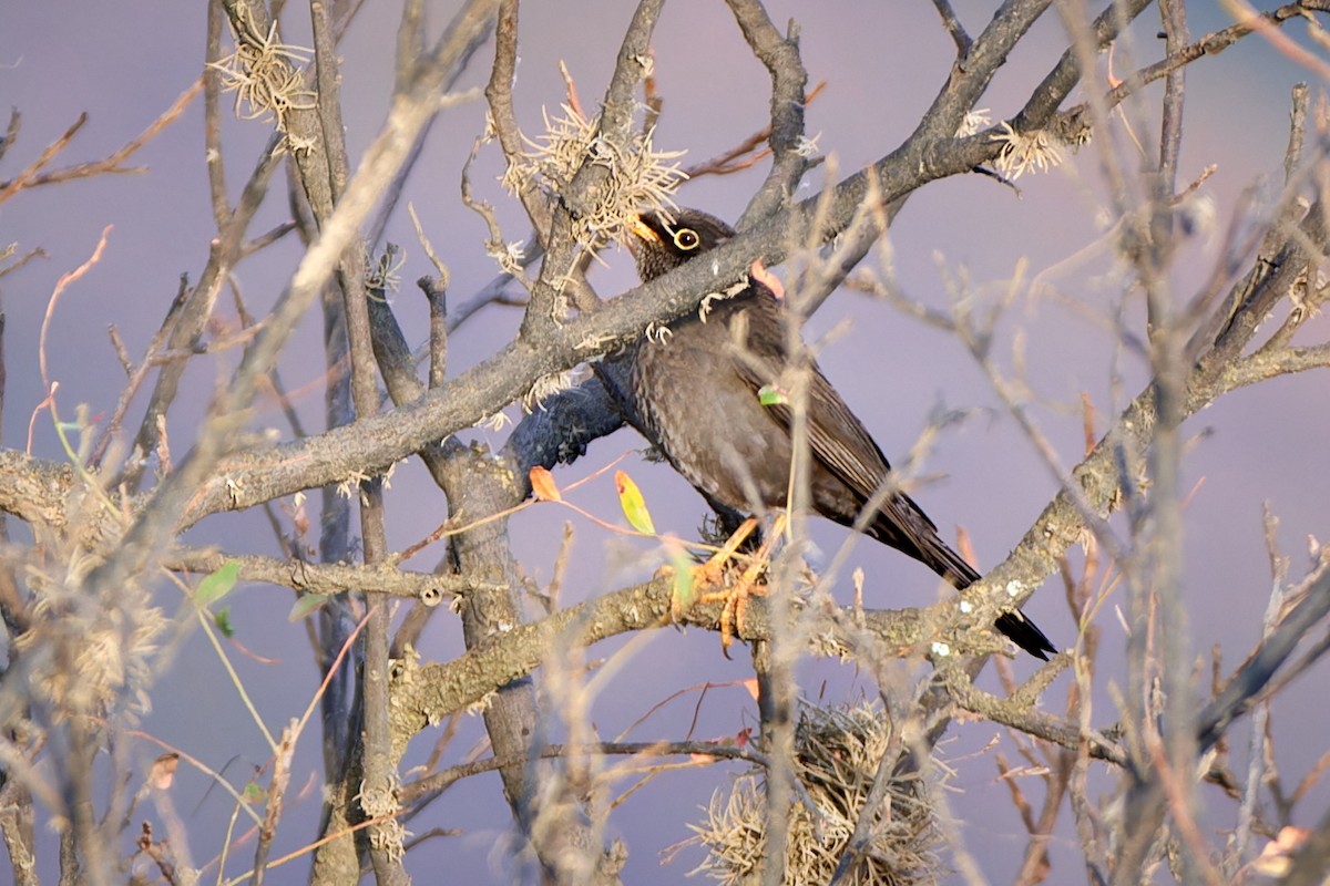
[[[291,4],[287,13],[286,40],[307,44],[307,24],[297,5]],[[435,28],[442,27],[452,5],[430,5]],[[971,32],[978,32],[990,15],[990,4],[955,5]],[[0,105],[23,114],[23,129],[0,161],[0,181],[27,166],[84,112],[88,122],[56,165],[104,157],[137,135],[200,74],[203,7],[169,0],[5,4],[0,9]],[[827,82],[809,108],[807,130],[817,137],[818,150],[834,157],[842,175],[886,154],[910,134],[952,64],[951,41],[930,4],[870,8],[849,1],[785,1],[769,8],[778,23],[798,20],[810,82]],[[515,97],[519,121],[528,134],[540,130],[543,109],[556,112],[564,101],[560,60],[576,78],[584,102],[592,104],[602,94],[630,13],[632,4],[612,0],[525,4]],[[348,145],[356,155],[374,138],[386,114],[395,16],[395,4],[367,4],[342,46],[344,122]],[[1221,13],[1209,4],[1193,13],[1193,33],[1224,24]],[[1130,65],[1133,54],[1144,60],[1158,56],[1156,27],[1157,21],[1145,21],[1133,32],[1138,40],[1115,56],[1115,65],[1121,65],[1116,73]],[[1063,40],[1061,24],[1055,13],[1048,13],[986,96],[983,105],[995,120],[1020,106],[1056,60]],[[489,52],[487,48],[477,54],[460,88],[484,84]],[[660,149],[686,150],[685,162],[698,162],[765,125],[766,73],[747,52],[724,4],[701,0],[669,4],[656,32],[654,53],[657,86],[665,98],[656,133]],[[1260,217],[1278,193],[1289,92],[1294,82],[1307,78],[1314,89],[1321,88],[1310,72],[1299,70],[1260,40],[1249,40],[1192,68],[1180,175],[1196,179],[1212,163],[1216,171],[1197,193],[1197,205],[1213,222],[1210,227],[1202,226],[1188,244],[1170,278],[1180,303],[1204,282],[1222,231],[1234,219],[1242,219],[1249,206]],[[1073,100],[1080,97],[1083,93],[1077,92]],[[1142,112],[1134,122],[1136,134],[1149,145],[1157,132],[1154,117]],[[464,302],[496,272],[493,260],[484,254],[483,223],[459,198],[462,163],[483,124],[481,102],[440,117],[406,193],[450,266],[454,304]],[[225,154],[233,198],[267,135],[269,128],[259,121],[227,121]],[[1119,132],[1112,141],[1120,143],[1124,137]],[[958,292],[986,303],[1016,292],[998,327],[999,360],[1009,368],[1017,344],[1023,348],[1040,397],[1033,414],[1064,466],[1073,465],[1080,454],[1081,418],[1076,409],[1081,395],[1095,402],[1103,426],[1116,410],[1115,373],[1124,379],[1125,396],[1134,396],[1145,380],[1140,360],[1119,353],[1104,323],[1124,298],[1133,303],[1101,246],[1107,203],[1099,150],[1099,143],[1092,145],[1051,174],[1021,178],[1019,190],[980,175],[938,182],[911,197],[890,234],[891,272],[914,299],[944,308]],[[8,371],[0,442],[7,448],[28,445],[29,418],[43,400],[37,345],[55,284],[61,274],[88,258],[106,226],[113,228],[104,258],[51,311],[52,376],[60,381],[60,404],[66,414],[77,404],[88,404],[93,413],[114,408],[124,372],[108,325],[114,324],[130,355],[141,355],[177,291],[180,276],[197,279],[206,263],[213,227],[203,173],[201,101],[190,105],[180,121],[130,162],[145,166],[146,171],[39,189],[0,206],[0,246],[16,242],[20,251],[40,246],[47,254],[0,279]],[[521,239],[527,234],[523,213],[499,186],[499,171],[497,149],[489,146],[473,173],[477,190],[496,205],[508,239]],[[680,193],[680,202],[733,221],[763,171],[759,166],[741,175],[690,182]],[[815,193],[821,182],[819,171],[810,173],[799,197]],[[285,218],[285,201],[275,189],[254,230],[266,230]],[[430,271],[404,211],[399,210],[390,223],[387,239],[406,247],[404,280]],[[290,240],[241,267],[237,288],[251,312],[271,304],[298,258],[298,244]],[[1012,279],[1023,284],[1012,290]],[[1028,284],[1033,279],[1047,286],[1032,291]],[[606,266],[593,271],[592,282],[602,296],[630,288],[634,283],[630,258],[610,251]],[[423,299],[404,290],[398,294],[395,307],[408,337],[423,340]],[[218,312],[223,321],[233,321],[230,306],[221,306]],[[503,308],[487,308],[477,315],[450,341],[450,372],[460,372],[492,353],[513,335],[519,319],[517,312]],[[903,458],[910,452],[938,410],[966,412],[967,418],[948,426],[928,453],[924,472],[936,481],[916,498],[944,535],[964,527],[982,566],[999,562],[1055,494],[1057,477],[1004,412],[983,369],[948,333],[861,294],[838,292],[811,319],[807,337],[818,340],[833,331],[834,340],[821,353],[822,365],[891,458]],[[1326,321],[1314,323],[1309,332],[1323,336]],[[297,409],[309,426],[319,426],[322,421],[318,336],[319,319],[310,316],[281,364],[287,388],[298,392]],[[190,430],[206,408],[211,385],[230,368],[226,357],[196,361],[186,376],[192,395],[172,416],[173,449],[181,453],[188,449]],[[1270,588],[1262,506],[1278,515],[1278,539],[1295,570],[1306,561],[1306,539],[1330,534],[1325,509],[1330,476],[1325,472],[1325,448],[1315,442],[1330,433],[1330,410],[1321,408],[1325,384],[1319,375],[1274,380],[1224,397],[1185,428],[1192,444],[1184,485],[1196,486],[1196,491],[1186,514],[1184,583],[1188,642],[1198,660],[1206,659],[1212,644],[1220,644],[1225,663],[1232,667],[1258,636]],[[516,416],[513,409],[509,413]],[[290,433],[271,405],[259,412],[257,424]],[[485,429],[469,436],[493,445],[503,440],[503,432]],[[557,470],[556,477],[567,486],[622,456],[621,466],[642,486],[657,527],[692,533],[704,503],[668,468],[645,462],[641,448],[640,438],[621,430],[596,442],[585,458]],[[41,416],[33,421],[32,452],[52,460],[64,457],[51,421]],[[617,519],[608,476],[579,491],[577,503],[610,522]],[[442,522],[444,502],[419,465],[403,464],[388,491],[388,510],[390,542],[400,550]],[[585,519],[541,505],[523,513],[512,526],[519,558],[535,580],[548,582],[553,574],[565,521],[571,521],[575,533],[575,569],[565,579],[565,602],[649,575],[653,563],[648,547],[620,541]],[[1123,531],[1120,522],[1117,529]],[[210,518],[192,533],[192,539],[277,554],[266,519],[257,513]],[[814,539],[830,558],[845,542],[845,533],[819,525]],[[431,569],[439,555],[435,546],[408,566]],[[871,584],[900,588],[894,590],[896,595],[890,604],[923,604],[935,592],[928,573],[894,551],[857,545],[853,563],[872,576],[870,591]],[[838,592],[849,602],[849,586]],[[254,658],[239,656],[239,667],[269,724],[285,723],[299,713],[315,685],[303,628],[286,623],[289,607],[289,595],[270,587],[242,588],[234,603],[239,638],[254,651]],[[1076,626],[1055,584],[1036,594],[1027,612],[1056,644],[1073,642]],[[1111,610],[1101,615],[1100,627],[1105,647],[1101,687],[1109,683],[1120,687],[1125,681],[1124,638]],[[448,659],[459,652],[460,643],[456,623],[440,618],[427,632],[422,654],[427,659]],[[609,656],[622,646],[606,644],[595,650],[595,655]],[[630,727],[653,704],[678,689],[742,680],[749,673],[743,652],[737,652],[733,662],[726,660],[714,636],[698,631],[658,631],[625,655],[629,659],[622,675],[593,709],[604,737]],[[279,663],[263,663],[261,658]],[[1033,669],[1028,660],[1016,662],[1015,667],[1019,675]],[[206,687],[206,692],[201,693],[200,687]],[[1049,691],[1045,703],[1049,709],[1061,709],[1065,687],[1064,676]],[[809,697],[839,693],[849,699],[874,692],[863,675],[825,663],[801,669],[801,689]],[[1330,721],[1318,699],[1314,679],[1305,679],[1290,687],[1275,705],[1274,729],[1279,753],[1286,754],[1282,758],[1286,773],[1305,772],[1325,752],[1323,736]],[[706,693],[701,703],[696,692],[669,701],[632,736],[680,737],[693,717],[694,704],[698,704],[696,735],[701,737],[734,735],[755,724],[755,711],[742,688],[720,688]],[[1096,707],[1097,723],[1116,719],[1107,692],[1096,699]],[[247,766],[259,765],[266,757],[262,740],[225,681],[215,655],[197,636],[162,675],[144,729],[188,748],[215,768],[229,765],[229,774],[237,780],[245,777]],[[479,720],[467,721],[448,753],[460,756],[480,735]],[[963,809],[958,816],[970,850],[983,861],[992,882],[1009,882],[1024,845],[1021,825],[1007,788],[995,777],[991,756],[974,754],[999,735],[995,727],[967,724],[955,731],[943,753],[959,761],[958,780],[964,794],[955,808]],[[1245,736],[1244,728],[1234,735]],[[432,740],[432,736],[418,737],[412,758],[423,758]],[[1011,757],[1009,741],[999,740]],[[144,741],[138,753],[150,760],[157,749]],[[318,749],[310,741],[298,756],[298,770],[317,784],[318,765]],[[684,870],[700,861],[694,850],[661,867],[657,851],[689,836],[684,822],[696,817],[697,806],[706,804],[712,790],[733,772],[708,768],[666,773],[625,801],[616,820],[620,829],[616,834],[632,850],[626,882],[677,882]],[[630,784],[621,782],[621,789]],[[1035,780],[1028,789],[1039,793]],[[181,773],[176,794],[177,808],[190,828],[196,858],[210,858],[221,845],[219,834],[229,814],[226,798],[215,789],[209,790],[206,778],[197,772]],[[279,836],[279,851],[313,838],[317,812],[317,790],[293,805]],[[1224,814],[1218,818],[1230,820]],[[464,882],[505,882],[508,817],[495,777],[462,782],[411,828],[463,830],[458,837],[427,843],[419,861],[412,862],[422,865],[416,870],[446,862]],[[1083,875],[1069,828],[1059,833],[1052,854],[1056,882]],[[297,879],[303,879],[303,874],[283,874],[270,882]]]

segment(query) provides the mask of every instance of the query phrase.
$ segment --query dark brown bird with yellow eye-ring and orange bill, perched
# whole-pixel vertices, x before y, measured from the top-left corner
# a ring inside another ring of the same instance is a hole
[[[673,221],[642,214],[633,232],[644,282],[734,236],[721,219],[688,209]],[[641,341],[628,360],[629,396],[641,430],[722,513],[786,502],[791,413],[783,402],[759,400],[759,391],[778,381],[789,359],[781,311],[766,286],[750,282],[738,295],[714,300],[705,321],[697,315],[676,320],[670,335]],[[813,507],[853,526],[868,499],[890,482],[891,466],[815,364],[807,412]],[[888,494],[864,531],[922,561],[958,588],[979,579],[903,493]],[[996,627],[1040,659],[1056,652],[1019,611],[1003,614]]]

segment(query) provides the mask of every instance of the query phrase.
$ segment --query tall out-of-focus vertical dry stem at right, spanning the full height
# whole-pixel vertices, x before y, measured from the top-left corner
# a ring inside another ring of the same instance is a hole
[[[1166,45],[1176,50],[1185,41],[1185,16],[1177,4],[1166,1],[1160,12]],[[1166,814],[1172,813],[1186,836],[1194,833],[1189,825],[1196,817],[1194,781],[1189,777],[1197,758],[1196,697],[1181,602],[1182,491],[1178,476],[1182,458],[1180,425],[1185,418],[1182,397],[1188,384],[1188,325],[1174,310],[1166,282],[1176,246],[1172,198],[1181,143],[1182,90],[1182,72],[1172,72],[1165,82],[1158,167],[1145,173],[1140,191],[1127,181],[1123,169],[1109,167],[1107,161],[1112,154],[1105,154],[1105,171],[1115,202],[1127,221],[1125,258],[1132,262],[1134,278],[1145,291],[1157,416],[1148,450],[1152,481],[1148,501],[1133,501],[1130,491],[1127,495],[1128,510],[1136,511],[1130,523],[1133,549],[1138,554],[1124,562],[1130,618],[1128,708],[1124,716],[1128,733],[1144,739],[1144,747],[1128,743],[1133,769],[1150,774],[1136,780],[1125,797],[1127,828],[1115,859],[1115,882],[1124,885],[1136,877],[1133,871],[1146,865]],[[1100,129],[1107,124],[1101,120],[1105,112],[1095,106],[1093,113]],[[1127,461],[1133,460],[1134,456],[1127,456]],[[1157,692],[1168,700],[1162,712],[1156,709]],[[1162,733],[1158,732],[1161,715]],[[1184,845],[1193,851],[1182,854],[1182,870],[1210,879],[1213,871],[1205,863],[1204,849],[1194,840],[1185,840]],[[1201,857],[1196,855],[1197,849],[1202,851]],[[1201,870],[1193,870],[1196,866]]]

